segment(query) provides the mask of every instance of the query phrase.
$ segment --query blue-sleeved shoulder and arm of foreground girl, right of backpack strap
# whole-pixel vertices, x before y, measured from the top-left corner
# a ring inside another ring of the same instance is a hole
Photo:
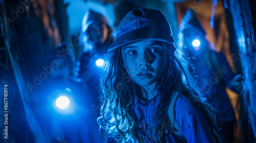
[[[170,118],[170,120],[175,122],[174,127],[182,132],[187,142],[216,142],[205,111],[195,106],[182,93],[177,97],[173,109],[168,112],[169,115],[173,115],[174,119]]]

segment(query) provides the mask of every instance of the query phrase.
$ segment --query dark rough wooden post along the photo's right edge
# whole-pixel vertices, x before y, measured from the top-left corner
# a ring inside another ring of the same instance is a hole
[[[243,74],[244,88],[241,94],[240,123],[244,142],[252,142],[256,135],[256,1],[228,1],[232,14],[234,30],[239,46],[239,56]]]

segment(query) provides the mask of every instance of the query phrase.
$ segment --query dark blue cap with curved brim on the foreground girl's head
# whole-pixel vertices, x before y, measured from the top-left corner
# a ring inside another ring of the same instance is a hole
[[[152,39],[173,43],[172,30],[166,17],[157,9],[134,9],[130,11],[120,22],[116,34],[116,40],[109,47],[109,51],[115,50],[126,44]]]

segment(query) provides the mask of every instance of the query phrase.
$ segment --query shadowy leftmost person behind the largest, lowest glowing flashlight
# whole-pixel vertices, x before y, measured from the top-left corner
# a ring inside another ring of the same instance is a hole
[[[98,130],[89,127],[93,113],[88,104],[91,96],[81,79],[73,76],[73,66],[66,43],[54,49],[44,65],[49,77],[42,81],[37,90],[33,113],[50,142],[96,142],[94,133],[98,133]],[[70,100],[66,109],[59,109],[55,105],[56,99],[61,96]]]

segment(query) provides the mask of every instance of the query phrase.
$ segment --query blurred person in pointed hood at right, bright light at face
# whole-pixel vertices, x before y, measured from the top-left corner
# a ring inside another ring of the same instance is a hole
[[[207,101],[220,113],[224,138],[233,142],[236,117],[226,93],[226,86],[239,93],[242,90],[243,76],[232,73],[223,54],[209,50],[205,31],[193,10],[188,10],[184,15],[179,32],[179,38],[186,46],[183,50],[195,65],[194,78],[197,85]],[[191,69],[191,72],[194,70]]]

